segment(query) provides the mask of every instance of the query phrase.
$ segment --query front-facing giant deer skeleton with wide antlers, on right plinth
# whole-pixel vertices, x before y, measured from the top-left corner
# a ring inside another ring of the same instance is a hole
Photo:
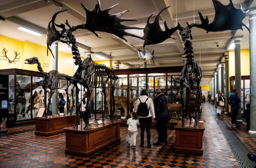
[[[230,3],[228,5],[223,5],[218,0],[212,0],[214,9],[215,9],[215,17],[213,21],[209,24],[208,18],[203,18],[202,14],[200,12],[200,20],[202,24],[187,24],[186,28],[183,28],[178,23],[175,28],[169,29],[167,27],[166,22],[165,24],[165,31],[161,30],[159,25],[159,15],[163,10],[167,9],[168,7],[161,10],[158,15],[156,16],[153,23],[147,22],[147,25],[145,27],[144,32],[144,38],[148,41],[145,41],[143,44],[143,48],[145,45],[150,44],[158,44],[163,41],[165,41],[168,38],[173,38],[171,35],[176,31],[180,30],[180,35],[182,37],[182,40],[185,42],[184,50],[186,54],[186,64],[184,65],[182,69],[182,78],[180,79],[180,93],[182,95],[182,126],[185,126],[185,113],[187,113],[187,119],[189,119],[189,125],[191,124],[191,91],[193,86],[196,86],[196,101],[195,101],[195,127],[198,127],[198,119],[199,119],[199,96],[201,92],[200,87],[200,80],[202,78],[202,72],[200,66],[197,64],[196,61],[193,60],[193,48],[192,43],[190,40],[192,39],[191,35],[191,28],[193,26],[202,28],[207,31],[225,31],[225,30],[243,30],[242,26],[245,26],[248,30],[249,28],[243,24],[243,19],[246,17],[247,12],[242,10],[242,7],[240,5],[240,8],[237,9],[234,7],[234,4],[232,0],[230,0]],[[152,16],[152,15],[151,15]],[[151,17],[150,16],[150,17]],[[149,18],[150,18],[149,17]],[[149,20],[148,18],[148,20]],[[250,30],[249,30],[250,31]],[[173,38],[174,39],[174,38]],[[187,100],[184,100],[184,91],[183,87],[186,86],[187,91],[189,92],[189,96],[186,96]]]

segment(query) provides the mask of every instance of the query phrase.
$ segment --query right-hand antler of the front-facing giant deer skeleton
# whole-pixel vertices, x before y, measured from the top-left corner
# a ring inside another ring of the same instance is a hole
[[[234,7],[232,0],[229,1],[230,3],[225,6],[218,0],[212,0],[215,9],[215,17],[213,21],[209,24],[208,17],[206,16],[206,18],[203,18],[202,14],[198,12],[202,24],[191,24],[191,26],[202,28],[206,30],[207,33],[209,31],[243,30],[242,26],[245,26],[247,30],[249,30],[249,28],[242,22],[249,11],[243,11],[241,4],[240,8],[237,9]]]

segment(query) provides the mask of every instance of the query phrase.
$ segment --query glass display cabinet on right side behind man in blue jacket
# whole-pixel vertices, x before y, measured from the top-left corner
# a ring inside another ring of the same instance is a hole
[[[235,76],[230,76],[230,93],[236,89]],[[229,94],[230,94],[229,93]],[[229,95],[228,95],[229,96]],[[250,104],[250,76],[241,76],[241,113],[246,109],[246,105]]]

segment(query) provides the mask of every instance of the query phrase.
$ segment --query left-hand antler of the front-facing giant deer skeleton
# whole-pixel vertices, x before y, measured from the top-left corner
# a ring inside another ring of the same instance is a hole
[[[168,6],[170,7],[170,6]],[[165,7],[164,9],[162,9],[155,18],[155,21],[153,23],[149,23],[149,19],[152,17],[152,15],[150,15],[150,17],[148,18],[147,21],[147,25],[145,27],[145,29],[143,30],[144,32],[144,39],[147,39],[147,41],[144,42],[143,44],[143,48],[145,50],[145,45],[150,45],[150,44],[158,44],[161,43],[163,41],[165,41],[166,39],[172,38],[175,39],[174,37],[171,37],[171,35],[180,28],[180,24],[178,23],[178,25],[174,28],[169,29],[167,27],[166,21],[164,22],[165,24],[165,31],[163,31],[160,27],[159,24],[159,16],[160,13],[162,11],[164,11],[165,9],[167,9],[168,7]]]

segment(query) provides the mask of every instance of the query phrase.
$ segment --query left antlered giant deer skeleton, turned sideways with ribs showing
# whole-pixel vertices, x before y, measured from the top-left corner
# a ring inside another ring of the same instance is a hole
[[[47,54],[48,49],[50,50],[50,45],[54,42],[59,40],[60,42],[66,43],[72,48],[72,54],[74,55],[75,59],[75,65],[78,65],[78,70],[74,74],[73,83],[76,87],[76,107],[78,107],[78,92],[79,89],[77,87],[77,83],[83,85],[87,89],[88,98],[87,98],[87,107],[86,111],[89,114],[90,109],[90,98],[91,98],[91,92],[93,87],[102,87],[103,93],[106,90],[106,82],[109,79],[113,79],[113,84],[111,85],[111,92],[112,92],[112,98],[113,98],[113,107],[115,107],[115,100],[113,92],[115,90],[115,82],[117,81],[118,77],[115,76],[114,70],[106,68],[106,66],[97,65],[93,61],[91,61],[91,58],[87,58],[85,61],[82,61],[80,58],[78,45],[76,43],[76,39],[74,37],[73,31],[76,31],[77,29],[87,29],[89,31],[92,31],[97,37],[98,34],[95,33],[95,31],[103,31],[108,32],[116,35],[117,37],[120,37],[121,39],[124,39],[124,35],[137,37],[140,39],[143,39],[142,37],[139,37],[137,35],[127,33],[126,29],[143,29],[143,28],[136,28],[136,27],[129,27],[124,26],[121,24],[122,21],[135,21],[130,19],[121,19],[121,16],[127,12],[123,11],[121,13],[116,14],[109,14],[108,12],[116,5],[109,7],[108,9],[102,11],[100,8],[100,1],[98,0],[98,4],[96,4],[95,9],[93,11],[89,11],[87,7],[85,7],[83,4],[81,4],[83,9],[86,11],[86,22],[85,24],[80,24],[77,26],[70,26],[68,22],[66,21],[65,24],[69,27],[69,29],[65,28],[64,24],[58,25],[55,24],[55,18],[58,15],[58,13],[63,12],[59,11],[54,14],[52,17],[52,20],[48,24],[48,33],[47,33]],[[61,28],[62,30],[57,30],[55,27]],[[124,39],[126,41],[126,39]],[[146,40],[147,41],[147,40]],[[70,45],[71,44],[71,45]],[[50,50],[52,53],[52,51]],[[109,73],[113,73],[113,75],[110,75]],[[99,81],[97,81],[99,79]],[[105,79],[105,80],[104,80]],[[75,82],[74,82],[75,81]],[[71,82],[70,82],[71,83]],[[69,86],[68,86],[69,87]],[[105,93],[104,93],[105,94]],[[106,96],[104,95],[104,106],[106,107]],[[105,108],[106,109],[106,108]],[[113,108],[114,109],[114,108]],[[76,114],[78,115],[78,108],[76,110]],[[105,114],[104,114],[105,115]],[[103,119],[104,119],[103,115]],[[113,111],[111,115],[111,122],[113,122]],[[89,118],[89,117],[88,117]],[[88,128],[89,122],[86,122],[85,129]],[[74,127],[78,127],[78,117],[77,122]]]

